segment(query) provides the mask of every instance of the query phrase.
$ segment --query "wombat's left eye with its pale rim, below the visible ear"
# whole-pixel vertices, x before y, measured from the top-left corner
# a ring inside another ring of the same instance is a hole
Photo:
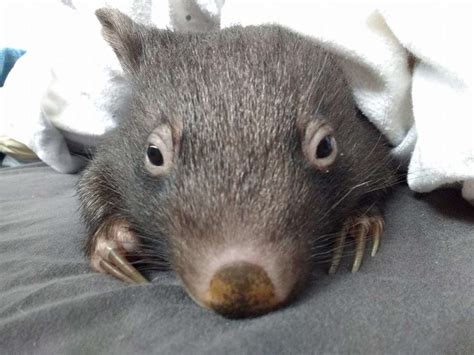
[[[150,134],[147,140],[145,167],[153,176],[162,176],[173,165],[174,147],[169,126],[162,125]]]

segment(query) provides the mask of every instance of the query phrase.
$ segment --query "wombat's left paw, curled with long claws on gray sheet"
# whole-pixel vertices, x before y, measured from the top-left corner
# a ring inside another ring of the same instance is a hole
[[[105,222],[96,232],[91,252],[91,266],[129,283],[148,282],[127,260],[127,251],[133,250],[136,237],[122,220]]]

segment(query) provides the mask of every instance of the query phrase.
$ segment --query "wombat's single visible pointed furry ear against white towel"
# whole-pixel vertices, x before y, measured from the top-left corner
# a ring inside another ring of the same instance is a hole
[[[146,27],[119,10],[102,8],[95,12],[102,24],[102,35],[114,50],[125,71],[138,69],[143,54]]]

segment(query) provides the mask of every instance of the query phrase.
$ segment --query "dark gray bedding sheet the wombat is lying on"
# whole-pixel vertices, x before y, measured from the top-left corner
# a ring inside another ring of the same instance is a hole
[[[474,209],[453,191],[389,201],[376,258],[316,270],[291,306],[247,320],[199,308],[171,272],[130,286],[81,252],[77,176],[0,169],[0,353],[474,353]]]

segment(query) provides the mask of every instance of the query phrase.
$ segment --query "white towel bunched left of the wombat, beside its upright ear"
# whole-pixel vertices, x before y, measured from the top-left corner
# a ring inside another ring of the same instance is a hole
[[[0,2],[0,29],[7,30],[0,32],[0,46],[26,50],[0,89],[0,135],[25,144],[63,173],[86,164],[70,148],[93,147],[115,127],[126,105],[127,84],[102,38],[96,8],[118,7],[136,20],[152,22],[151,13],[143,11],[151,1],[72,4],[74,8],[59,0]]]

